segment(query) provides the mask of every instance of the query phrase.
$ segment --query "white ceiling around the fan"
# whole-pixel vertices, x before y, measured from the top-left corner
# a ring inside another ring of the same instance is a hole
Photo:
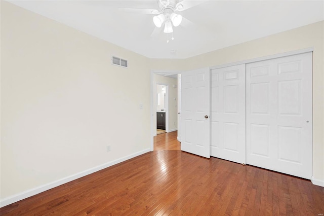
[[[163,29],[151,37],[154,15],[118,10],[158,9],[156,0],[9,2],[149,58],[188,58],[324,20],[324,0],[199,1],[179,12],[191,25],[174,27],[167,43]]]

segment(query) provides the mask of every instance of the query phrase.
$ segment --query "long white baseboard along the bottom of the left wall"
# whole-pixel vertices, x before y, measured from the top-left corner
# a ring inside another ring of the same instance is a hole
[[[51,182],[51,183],[48,183],[48,184],[45,184],[45,185],[30,189],[30,190],[27,190],[27,191],[24,191],[24,192],[19,193],[19,194],[15,194],[15,195],[10,196],[10,197],[6,197],[6,198],[0,200],[0,207],[4,207],[4,206],[9,205],[11,203],[23,200],[23,199],[25,199],[27,197],[31,197],[33,195],[42,193],[44,191],[55,188],[57,186],[63,185],[63,184],[68,183],[68,182],[71,182],[71,181],[73,181],[73,180],[75,180],[77,178],[84,177],[84,176],[89,175],[91,173],[97,172],[97,171],[99,171],[101,169],[105,169],[105,168],[107,168],[109,166],[113,166],[113,165],[115,165],[117,163],[129,160],[131,158],[137,157],[137,156],[145,154],[147,152],[150,152],[150,149],[145,149],[143,151],[136,152],[134,154],[128,155],[128,156],[123,157],[123,158],[119,158],[117,160],[114,160],[114,161],[111,161],[111,162],[108,162],[108,163],[104,163],[102,165],[93,167],[91,169],[87,169],[87,170],[84,170],[82,172],[78,172],[76,174],[69,175],[69,176],[61,178],[61,179],[59,179],[57,181],[54,181],[54,182]]]

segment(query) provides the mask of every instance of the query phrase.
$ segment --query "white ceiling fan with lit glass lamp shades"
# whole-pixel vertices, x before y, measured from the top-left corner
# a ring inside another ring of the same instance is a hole
[[[153,16],[153,23],[156,26],[153,30],[151,36],[160,32],[162,26],[164,26],[165,33],[168,33],[168,40],[169,43],[169,33],[173,32],[173,27],[177,27],[180,24],[184,26],[188,26],[192,24],[191,21],[182,17],[180,14],[176,12],[182,12],[187,10],[193,6],[199,5],[206,0],[200,1],[188,1],[188,0],[157,0],[158,10],[156,9],[140,9],[140,8],[119,8],[120,10],[126,12],[136,12],[136,13],[144,13],[144,14],[151,14]],[[172,40],[174,40],[172,35]]]

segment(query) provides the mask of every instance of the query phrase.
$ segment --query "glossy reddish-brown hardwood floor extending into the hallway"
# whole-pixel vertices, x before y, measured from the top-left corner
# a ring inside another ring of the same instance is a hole
[[[1,215],[322,215],[305,179],[181,152],[177,132],[154,151],[0,209]]]

